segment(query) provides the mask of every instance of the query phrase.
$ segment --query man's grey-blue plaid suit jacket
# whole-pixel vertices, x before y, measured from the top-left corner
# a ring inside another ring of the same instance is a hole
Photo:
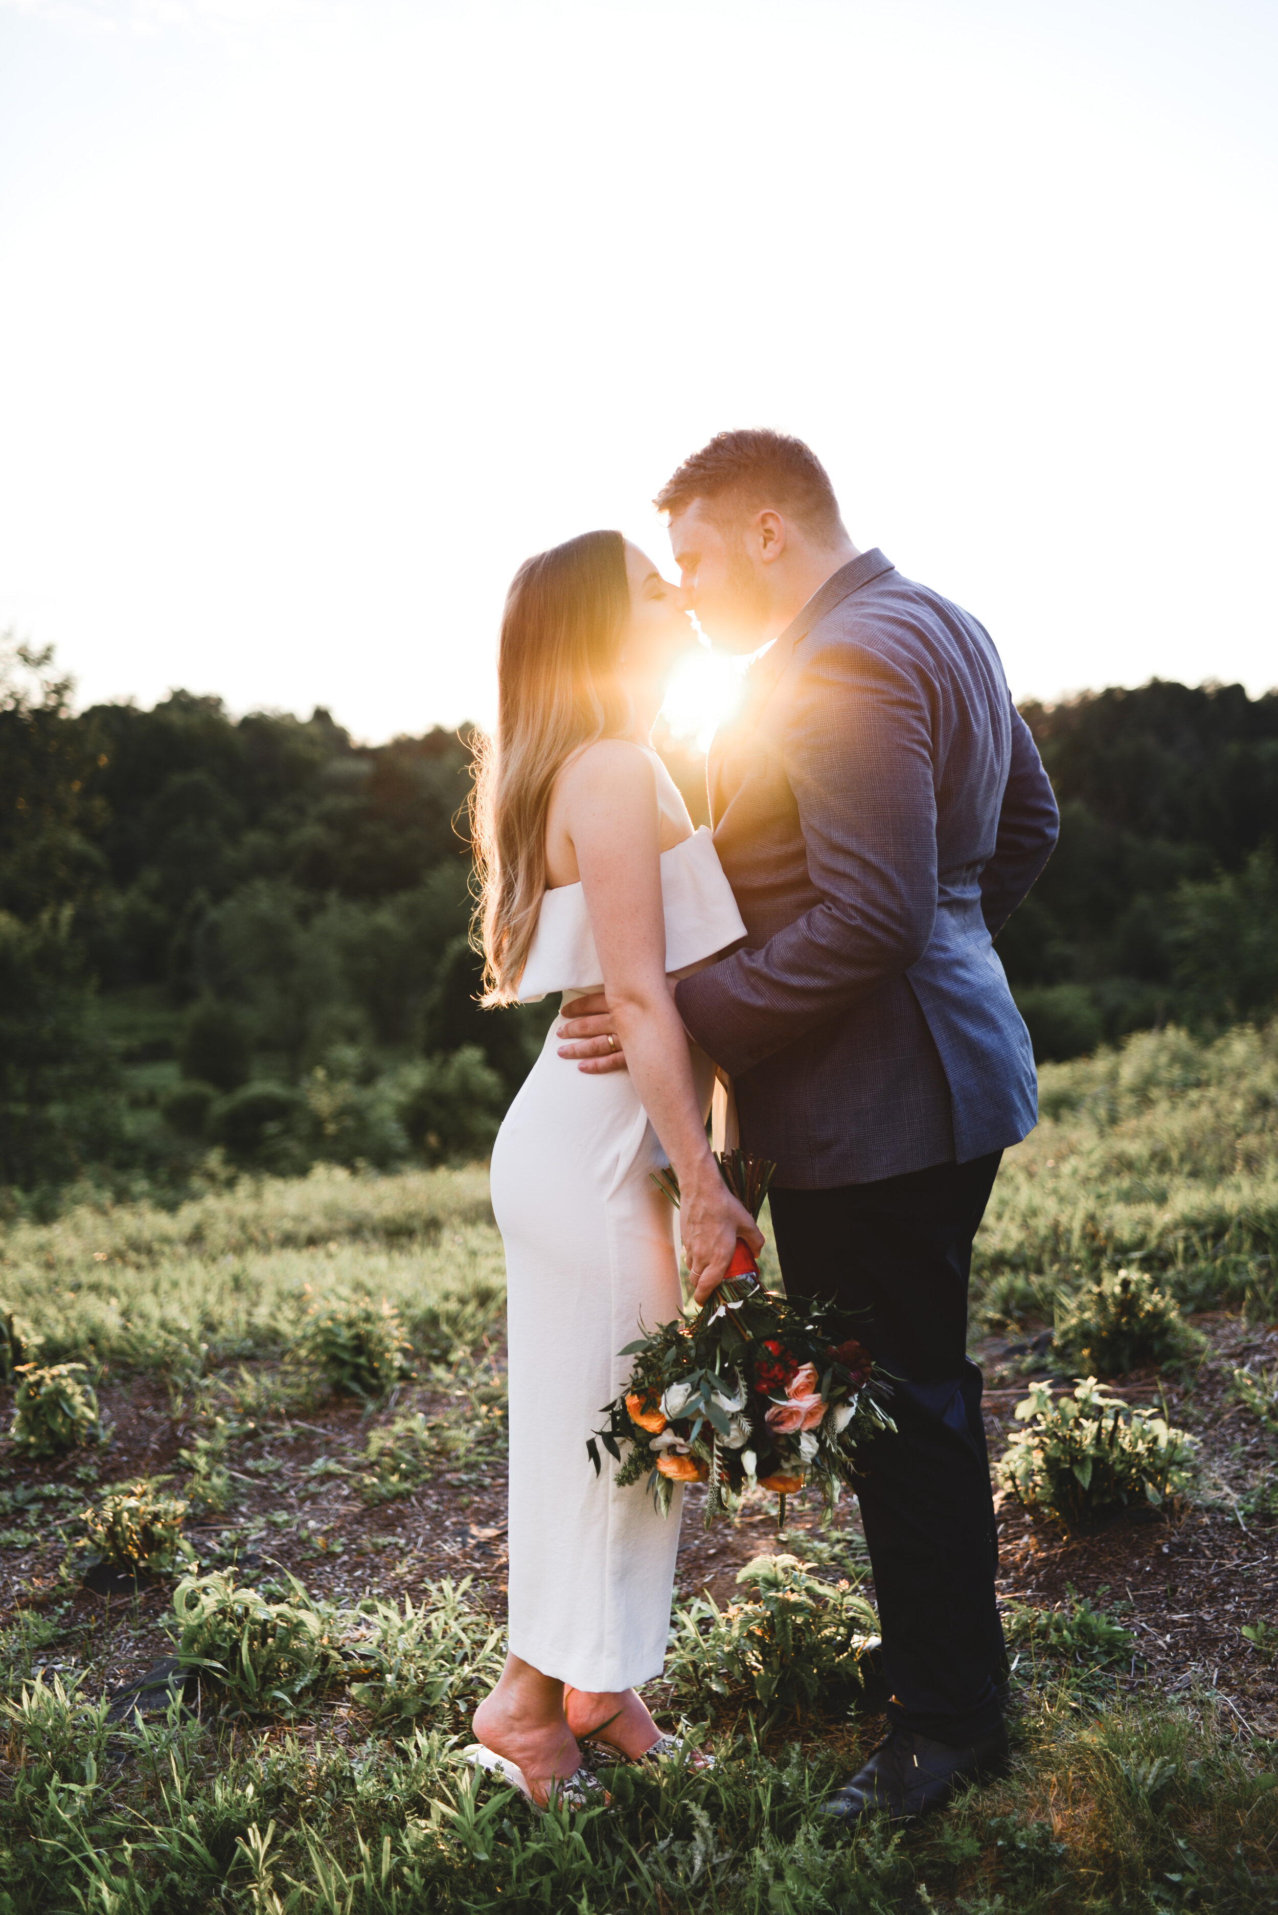
[[[861,553],[750,668],[708,779],[746,942],[677,1005],[742,1145],[825,1189],[1020,1141],[1033,1053],[991,935],[1058,818],[985,628]]]

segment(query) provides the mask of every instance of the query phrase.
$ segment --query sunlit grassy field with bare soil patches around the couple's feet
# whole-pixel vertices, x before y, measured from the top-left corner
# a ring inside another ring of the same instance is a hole
[[[1043,1113],[978,1245],[974,1342],[1018,1346],[1117,1266],[1209,1312],[1217,1340],[1263,1339],[1278,1316],[1278,1030],[1136,1034],[1045,1067]],[[329,1394],[308,1342],[318,1310],[362,1296],[396,1308],[415,1367],[369,1406]],[[1205,1524],[1221,1563],[1242,1565],[1221,1568],[1228,1691],[1144,1658],[1119,1578],[1094,1605],[1016,1601],[1012,1777],[846,1842],[817,1810],[878,1733],[838,1674],[867,1586],[855,1524],[788,1532],[807,1570],[740,1586],[735,1614],[681,1599],[654,1706],[704,1725],[714,1771],[610,1771],[608,1814],[534,1819],[459,1766],[501,1624],[501,1574],[476,1568],[503,1492],[501,1249],[480,1166],[210,1182],[172,1210],[73,1205],[8,1226],[0,1304],[15,1358],[84,1362],[117,1425],[65,1459],[0,1452],[0,1915],[1278,1907],[1274,1632],[1251,1599],[1278,1543],[1278,1434],[1213,1398],[1211,1377],[1230,1375],[1215,1356],[1152,1385],[1175,1390],[1251,1515],[1223,1509],[1205,1475],[1171,1524],[1121,1521],[1104,1547],[1135,1574],[1161,1547],[1152,1534]],[[1001,1362],[1014,1383],[1022,1358]],[[209,1672],[186,1712],[130,1725],[107,1699],[172,1655],[180,1565],[103,1599],[80,1588],[77,1545],[138,1475],[189,1501],[201,1639],[224,1668],[243,1658],[237,1681]],[[430,1553],[453,1534],[473,1551],[455,1559],[474,1574],[461,1591]],[[253,1655],[218,1576],[258,1593]],[[249,1664],[279,1687],[253,1691]],[[804,1668],[832,1672],[817,1702]]]

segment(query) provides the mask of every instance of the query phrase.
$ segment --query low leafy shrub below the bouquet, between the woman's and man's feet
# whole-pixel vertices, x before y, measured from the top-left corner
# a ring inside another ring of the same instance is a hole
[[[865,1689],[878,1620],[848,1582],[821,1582],[792,1555],[763,1555],[737,1574],[754,1597],[721,1611],[696,1597],[675,1611],[666,1679],[694,1706],[752,1697],[809,1708]]]

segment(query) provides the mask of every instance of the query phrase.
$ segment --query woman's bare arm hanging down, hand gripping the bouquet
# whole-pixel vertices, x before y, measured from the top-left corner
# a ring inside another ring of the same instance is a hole
[[[559,799],[616,1032],[639,1101],[679,1178],[683,1254],[704,1302],[723,1281],[737,1237],[758,1250],[763,1235],[723,1183],[706,1143],[687,1032],[666,984],[652,760],[624,739],[601,739],[561,774]]]

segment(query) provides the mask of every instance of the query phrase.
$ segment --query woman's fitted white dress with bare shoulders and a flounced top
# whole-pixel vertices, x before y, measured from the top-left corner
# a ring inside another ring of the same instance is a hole
[[[710,831],[662,852],[666,969],[681,971],[746,935]],[[520,1002],[601,988],[580,885],[547,890]],[[614,1488],[585,1453],[603,1404],[629,1375],[639,1325],[679,1312],[675,1212],[649,1182],[668,1160],[628,1072],[591,1076],[541,1055],[492,1153],[505,1243],[511,1501],[511,1651],[574,1689],[629,1689],[660,1676],[679,1543],[643,1482]],[[712,1067],[693,1049],[710,1105]]]

